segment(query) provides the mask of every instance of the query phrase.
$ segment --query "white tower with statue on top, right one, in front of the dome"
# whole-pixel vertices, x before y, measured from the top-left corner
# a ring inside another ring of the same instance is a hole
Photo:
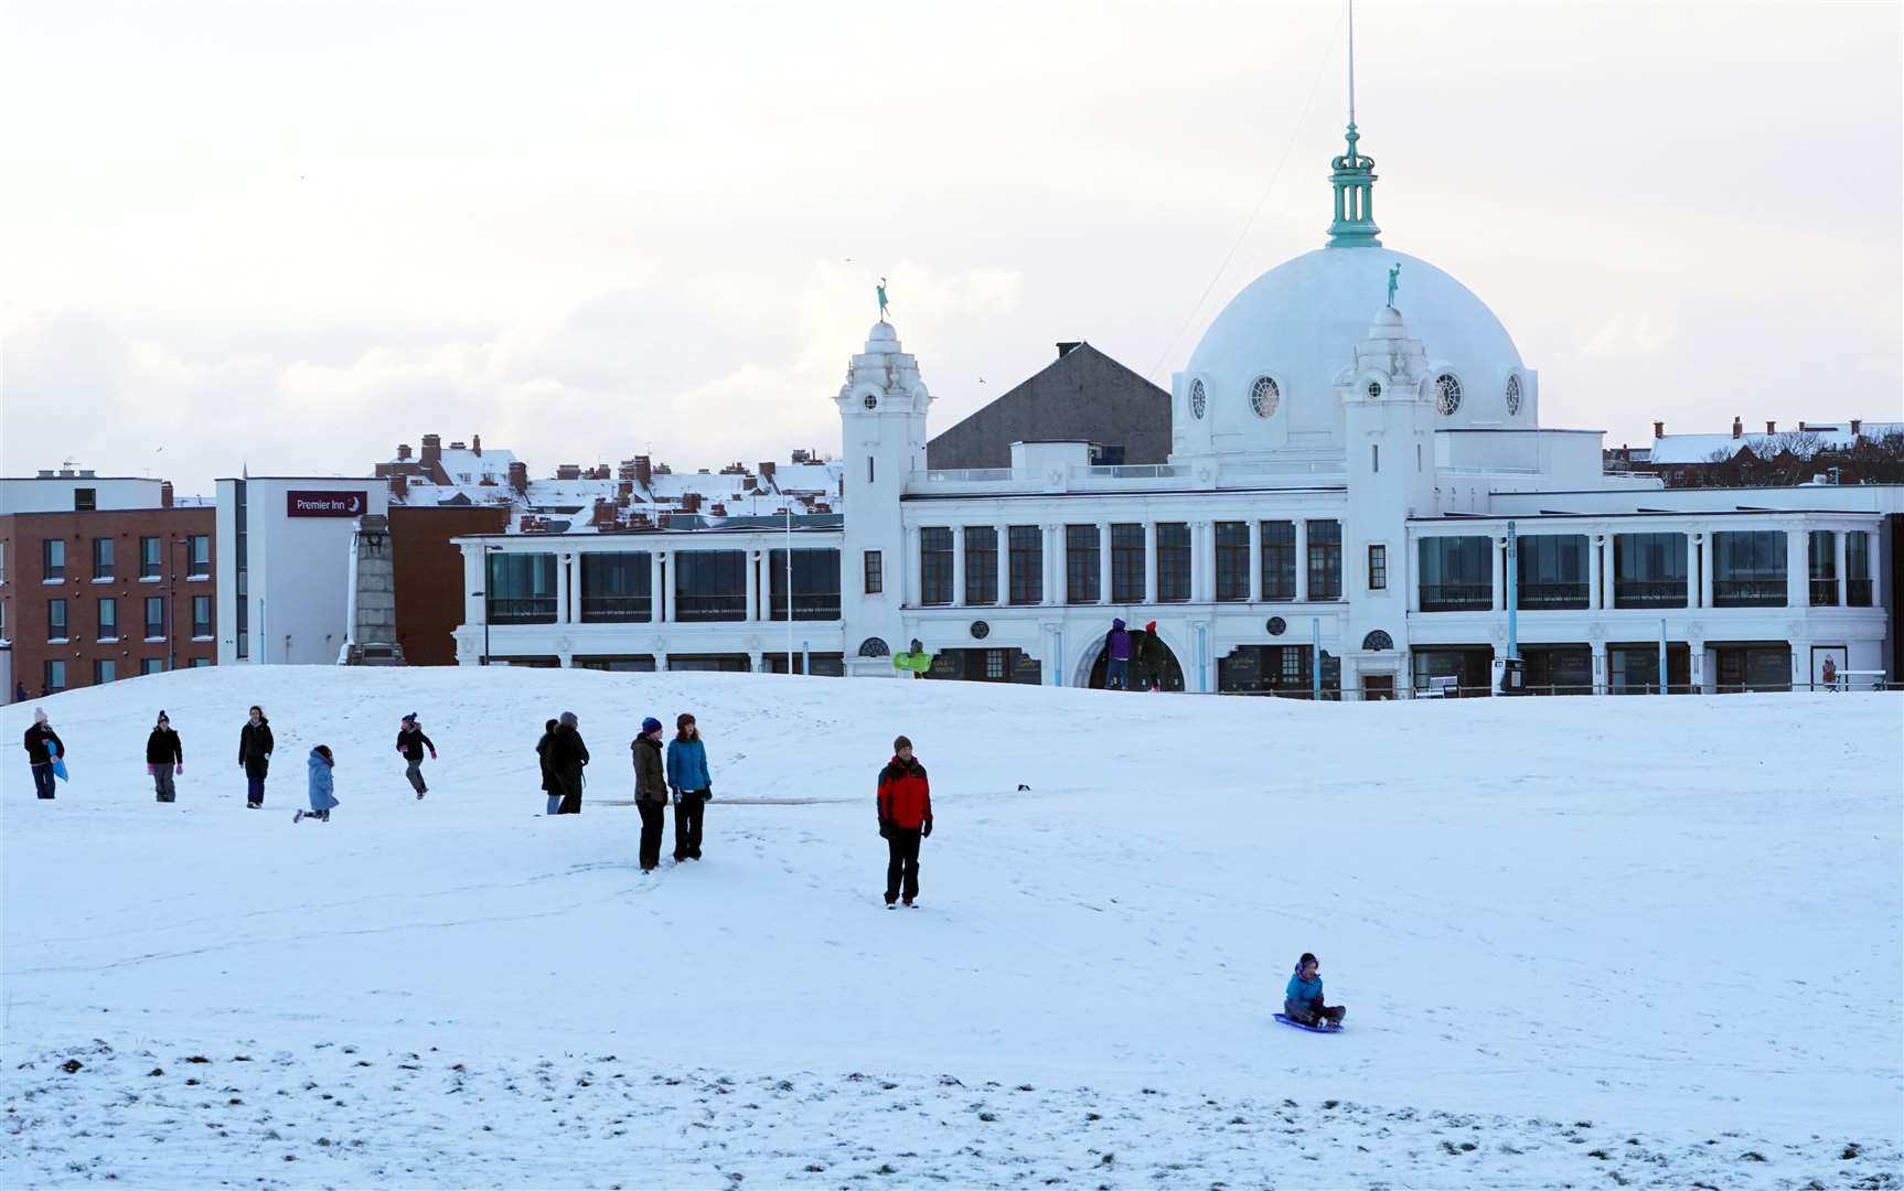
[[[1342,525],[1342,596],[1350,618],[1342,649],[1342,687],[1363,675],[1407,677],[1407,607],[1413,559],[1407,521],[1434,504],[1434,371],[1401,312],[1384,306],[1356,361],[1337,373],[1348,472]],[[1380,586],[1377,586],[1380,584]]]

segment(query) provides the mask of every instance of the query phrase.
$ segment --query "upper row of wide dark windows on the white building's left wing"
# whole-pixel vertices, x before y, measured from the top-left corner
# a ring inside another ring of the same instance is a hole
[[[554,554],[489,556],[487,616],[493,624],[554,624],[560,616]],[[769,620],[840,618],[838,550],[769,550]],[[668,620],[744,620],[748,592],[746,550],[678,550],[663,615]],[[581,618],[585,624],[657,620],[653,556],[645,550],[581,556]],[[868,582],[878,582],[874,573]]]

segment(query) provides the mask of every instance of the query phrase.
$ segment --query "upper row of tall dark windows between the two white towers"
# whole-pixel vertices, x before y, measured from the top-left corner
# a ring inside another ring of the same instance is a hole
[[[1249,521],[1217,521],[1215,563],[1219,601],[1249,599]],[[1297,525],[1295,521],[1259,521],[1262,599],[1293,601],[1297,597]],[[998,603],[998,531],[990,525],[965,527],[965,592],[963,603]],[[1102,603],[1104,535],[1097,525],[1064,527],[1064,603]],[[1009,557],[1005,599],[1009,603],[1043,603],[1043,529],[1013,525],[1007,529]],[[952,552],[956,535],[950,525],[920,529],[920,603],[950,605],[956,569]],[[1146,550],[1142,523],[1110,525],[1110,603],[1142,603],[1146,588]],[[1160,521],[1156,525],[1158,594],[1160,603],[1190,599],[1192,546],[1188,521]],[[868,552],[868,576],[878,565],[878,552]],[[1308,521],[1308,597],[1342,597],[1342,523]],[[1369,586],[1388,586],[1388,554],[1384,546],[1369,548]],[[878,588],[868,578],[866,592]]]

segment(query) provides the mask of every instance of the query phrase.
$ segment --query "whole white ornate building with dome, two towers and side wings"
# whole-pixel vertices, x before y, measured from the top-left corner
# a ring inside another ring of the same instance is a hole
[[[1188,691],[1481,691],[1510,645],[1531,691],[1898,677],[1904,489],[1605,476],[1601,432],[1540,426],[1500,320],[1380,245],[1356,143],[1327,247],[1173,375],[1167,464],[1053,441],[931,472],[931,392],[880,322],[834,398],[843,523],[459,538],[459,660],[893,675],[916,641],[935,677],[1095,685],[1123,618]]]

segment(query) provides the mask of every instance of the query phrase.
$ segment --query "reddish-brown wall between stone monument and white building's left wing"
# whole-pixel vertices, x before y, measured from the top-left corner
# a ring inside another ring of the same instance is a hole
[[[508,508],[390,506],[390,557],[396,565],[396,643],[409,666],[455,666],[463,622],[463,550],[457,535],[503,533]],[[474,590],[474,588],[470,588]]]

